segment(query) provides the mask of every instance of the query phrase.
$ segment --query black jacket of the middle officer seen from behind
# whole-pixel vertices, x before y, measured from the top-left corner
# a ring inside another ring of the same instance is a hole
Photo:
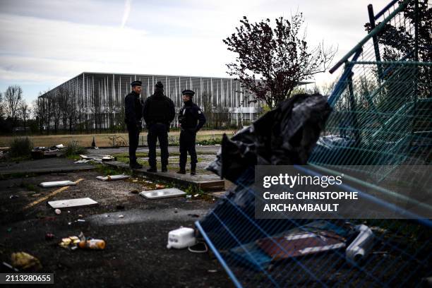
[[[144,102],[143,116],[145,124],[163,123],[169,125],[176,116],[174,102],[162,92],[155,92]]]

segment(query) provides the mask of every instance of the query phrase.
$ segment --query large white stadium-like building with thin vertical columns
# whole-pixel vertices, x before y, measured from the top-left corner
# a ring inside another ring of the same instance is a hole
[[[241,88],[232,78],[211,78],[193,76],[167,76],[120,73],[80,73],[71,80],[49,90],[40,96],[42,100],[54,100],[67,95],[73,97],[73,106],[79,110],[81,121],[87,128],[110,128],[124,119],[124,97],[131,92],[133,80],[143,81],[141,97],[152,95],[155,84],[164,84],[164,93],[176,105],[176,112],[182,106],[181,91],[191,89],[196,92],[193,101],[223,119],[224,125],[241,126],[256,119],[259,104],[251,102],[251,92]],[[224,114],[222,117],[220,114]],[[222,121],[222,120],[221,120]],[[80,121],[77,121],[77,124]],[[92,123],[91,123],[92,122]],[[177,117],[174,121],[177,126]],[[67,124],[59,124],[67,126]],[[93,126],[93,127],[92,127]]]

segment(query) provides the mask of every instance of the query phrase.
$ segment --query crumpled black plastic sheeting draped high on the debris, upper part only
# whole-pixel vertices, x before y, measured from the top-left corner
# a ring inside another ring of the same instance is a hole
[[[231,139],[224,134],[216,160],[207,169],[235,182],[257,164],[306,164],[330,111],[322,95],[294,95]]]

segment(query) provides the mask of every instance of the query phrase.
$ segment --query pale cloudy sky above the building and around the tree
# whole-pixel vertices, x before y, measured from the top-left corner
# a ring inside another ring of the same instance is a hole
[[[228,77],[222,40],[250,22],[304,15],[306,39],[337,47],[335,62],[366,35],[367,6],[390,0],[0,0],[0,92],[25,100],[86,71]],[[335,76],[316,76],[317,85]]]

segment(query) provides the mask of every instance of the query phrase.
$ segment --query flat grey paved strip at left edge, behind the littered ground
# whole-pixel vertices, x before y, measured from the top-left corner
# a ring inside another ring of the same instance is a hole
[[[0,162],[0,175],[10,174],[47,174],[73,172],[95,169],[91,164],[73,164],[73,160],[67,158],[47,158],[40,160],[25,160],[16,162]]]

